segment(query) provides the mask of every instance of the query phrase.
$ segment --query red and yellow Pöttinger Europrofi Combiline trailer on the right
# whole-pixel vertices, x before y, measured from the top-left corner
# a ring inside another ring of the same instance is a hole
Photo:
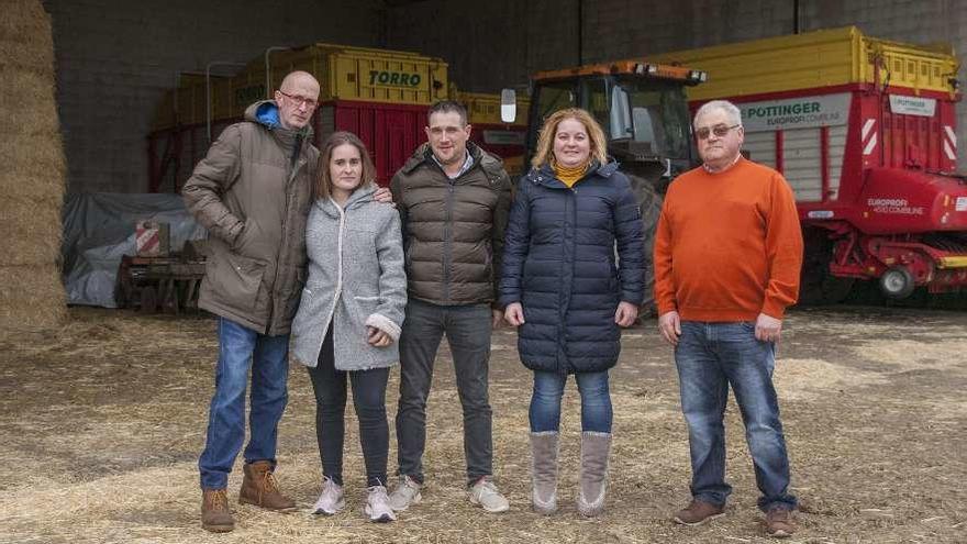
[[[742,110],[743,153],[792,186],[807,242],[803,299],[844,298],[878,279],[905,298],[967,286],[967,182],[957,175],[949,48],[864,36],[856,27],[669,53],[709,74],[692,110]]]

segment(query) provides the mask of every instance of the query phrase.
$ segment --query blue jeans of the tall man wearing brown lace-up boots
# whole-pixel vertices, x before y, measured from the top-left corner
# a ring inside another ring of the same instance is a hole
[[[198,459],[201,487],[224,489],[245,441],[245,388],[252,367],[245,463],[276,462],[279,420],[286,409],[289,335],[266,336],[219,318],[219,364],[209,409],[204,451]]]

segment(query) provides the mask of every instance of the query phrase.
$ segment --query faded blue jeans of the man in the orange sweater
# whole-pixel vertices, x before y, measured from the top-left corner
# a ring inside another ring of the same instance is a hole
[[[675,364],[688,422],[692,496],[724,504],[732,492],[725,482],[722,423],[732,386],[762,492],[759,509],[796,508],[796,497],[788,492],[789,456],[773,387],[775,344],[756,340],[752,322],[682,321]]]

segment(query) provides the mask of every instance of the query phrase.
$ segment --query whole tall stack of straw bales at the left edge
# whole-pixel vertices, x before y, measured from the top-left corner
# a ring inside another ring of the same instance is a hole
[[[66,317],[60,256],[65,159],[54,98],[54,42],[40,0],[0,16],[0,332]]]

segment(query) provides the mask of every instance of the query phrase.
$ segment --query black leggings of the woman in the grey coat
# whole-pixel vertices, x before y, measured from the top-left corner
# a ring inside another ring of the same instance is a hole
[[[389,426],[386,421],[386,384],[389,368],[336,370],[333,360],[332,327],[326,332],[315,368],[309,368],[315,392],[315,438],[322,474],[343,485],[343,441],[345,438],[346,376],[353,387],[353,404],[359,420],[359,442],[366,464],[366,485],[386,486]]]

